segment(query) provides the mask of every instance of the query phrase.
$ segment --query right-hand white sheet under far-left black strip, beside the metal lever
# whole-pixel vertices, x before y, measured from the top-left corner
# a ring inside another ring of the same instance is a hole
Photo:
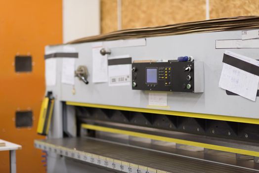
[[[75,85],[75,58],[62,59],[62,77],[63,84]]]

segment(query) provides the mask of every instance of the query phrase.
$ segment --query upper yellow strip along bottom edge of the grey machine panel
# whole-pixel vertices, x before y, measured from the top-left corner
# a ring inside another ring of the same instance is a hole
[[[121,111],[134,111],[134,112],[143,112],[143,113],[152,113],[152,114],[174,115],[174,116],[181,116],[181,117],[202,118],[202,119],[210,119],[210,120],[230,121],[230,122],[249,123],[249,124],[259,125],[259,119],[254,119],[254,118],[233,117],[233,116],[223,116],[223,115],[213,115],[213,114],[200,114],[200,113],[191,113],[191,112],[179,112],[179,111],[171,111],[171,110],[133,108],[133,107],[124,107],[124,106],[111,106],[111,105],[92,104],[92,103],[70,102],[70,101],[67,101],[66,104],[72,105],[72,106],[84,106],[84,107],[93,107],[93,108],[114,109],[114,110],[121,110]]]

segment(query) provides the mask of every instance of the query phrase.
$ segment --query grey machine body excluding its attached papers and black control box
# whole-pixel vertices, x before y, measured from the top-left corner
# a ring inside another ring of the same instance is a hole
[[[89,72],[87,85],[78,78],[75,85],[63,84],[66,53],[54,57],[57,83],[46,87],[56,98],[49,139],[35,141],[48,151],[48,173],[259,172],[259,101],[218,87],[227,49],[217,49],[215,43],[233,39],[241,39],[241,31],[151,37],[141,46],[111,48],[103,42],[111,51],[108,58],[129,54],[132,61],[147,61],[192,55],[194,62],[204,63],[204,91],[166,92],[167,107],[148,105],[149,93],[156,91],[92,83],[96,43],[46,46],[46,54],[73,47],[76,67],[84,65]],[[257,59],[259,48],[231,51]]]

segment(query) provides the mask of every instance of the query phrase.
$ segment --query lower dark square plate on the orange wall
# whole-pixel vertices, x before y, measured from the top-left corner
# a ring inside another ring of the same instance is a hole
[[[32,127],[32,125],[33,125],[32,111],[17,111],[15,113],[16,128]]]

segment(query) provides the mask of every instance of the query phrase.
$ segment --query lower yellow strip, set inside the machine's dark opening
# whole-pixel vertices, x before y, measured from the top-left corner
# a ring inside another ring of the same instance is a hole
[[[191,146],[203,147],[203,148],[208,148],[208,149],[213,149],[213,150],[219,150],[219,151],[225,151],[225,152],[238,153],[238,154],[259,157],[259,152],[257,152],[257,151],[251,151],[251,150],[245,150],[245,149],[239,149],[239,148],[233,148],[233,147],[226,147],[226,146],[219,146],[219,145],[208,144],[208,143],[194,142],[194,141],[189,141],[189,140],[176,139],[176,138],[171,138],[171,137],[134,132],[134,131],[129,131],[129,130],[106,128],[106,127],[88,125],[88,124],[82,124],[81,127],[84,129],[89,129],[89,130],[97,130],[97,131],[104,131],[104,132],[117,133],[117,134],[126,134],[129,136],[143,137],[143,138],[166,141],[166,142],[174,142],[174,143],[178,143],[178,144],[191,145]]]

